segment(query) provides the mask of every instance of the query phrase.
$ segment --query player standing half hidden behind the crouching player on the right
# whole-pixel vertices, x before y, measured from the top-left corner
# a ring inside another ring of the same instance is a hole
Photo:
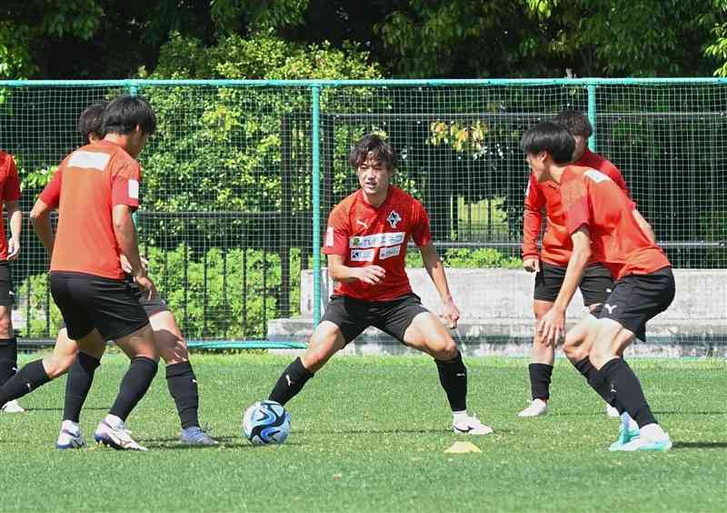
[[[603,156],[588,149],[588,138],[593,127],[586,116],[573,109],[563,110],[553,119],[553,123],[565,126],[573,135],[575,150],[573,163],[576,166],[587,166],[609,176],[613,183],[620,186],[628,195],[626,184],[621,172]],[[548,224],[543,235],[543,249],[538,252],[538,237],[543,224],[543,209],[548,216]],[[561,202],[560,187],[553,182],[538,184],[533,175],[530,176],[525,193],[525,210],[523,218],[523,267],[535,274],[535,290],[533,294],[533,314],[535,321],[540,322],[543,316],[553,307],[558,291],[563,285],[563,277],[573,246],[570,236],[565,231],[565,212]],[[583,273],[579,284],[583,294],[583,302],[589,309],[603,303],[608,290],[613,287],[613,279],[609,270],[602,263],[591,260]],[[587,357],[587,349],[578,346],[582,339],[573,331],[566,340],[563,350],[573,365]],[[533,337],[531,363],[528,366],[532,402],[518,414],[518,417],[537,417],[548,411],[551,377],[555,351],[552,346],[543,344],[537,333]],[[609,415],[618,416],[618,412],[608,407]]]

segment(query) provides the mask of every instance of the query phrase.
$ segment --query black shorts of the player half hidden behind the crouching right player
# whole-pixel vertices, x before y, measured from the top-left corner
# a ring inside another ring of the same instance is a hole
[[[553,303],[563,286],[565,267],[540,262],[540,271],[535,275],[533,299]],[[585,268],[581,280],[581,294],[586,307],[603,303],[613,289],[613,277],[603,264],[593,264]]]

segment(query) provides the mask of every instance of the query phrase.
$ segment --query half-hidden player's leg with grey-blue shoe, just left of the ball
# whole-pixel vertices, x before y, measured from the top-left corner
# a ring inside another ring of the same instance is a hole
[[[189,361],[189,352],[174,314],[168,309],[149,311],[149,322],[154,330],[154,343],[166,364],[166,385],[174,398],[179,421],[180,439],[188,445],[213,446],[217,442],[207,435],[199,424],[199,392],[197,377]]]

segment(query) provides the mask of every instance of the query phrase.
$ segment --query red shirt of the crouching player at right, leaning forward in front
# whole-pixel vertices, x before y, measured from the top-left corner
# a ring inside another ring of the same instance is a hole
[[[649,240],[634,219],[631,198],[610,176],[588,167],[567,166],[561,197],[568,236],[587,226],[593,257],[609,268],[614,279],[671,266],[662,248]]]

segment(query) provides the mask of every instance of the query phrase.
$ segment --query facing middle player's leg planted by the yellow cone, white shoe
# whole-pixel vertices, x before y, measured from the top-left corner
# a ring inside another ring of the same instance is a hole
[[[424,308],[419,297],[411,294],[386,302],[373,326],[434,358],[439,382],[452,410],[454,432],[471,435],[493,432],[477,417],[467,414],[467,367],[462,354],[439,317]]]

